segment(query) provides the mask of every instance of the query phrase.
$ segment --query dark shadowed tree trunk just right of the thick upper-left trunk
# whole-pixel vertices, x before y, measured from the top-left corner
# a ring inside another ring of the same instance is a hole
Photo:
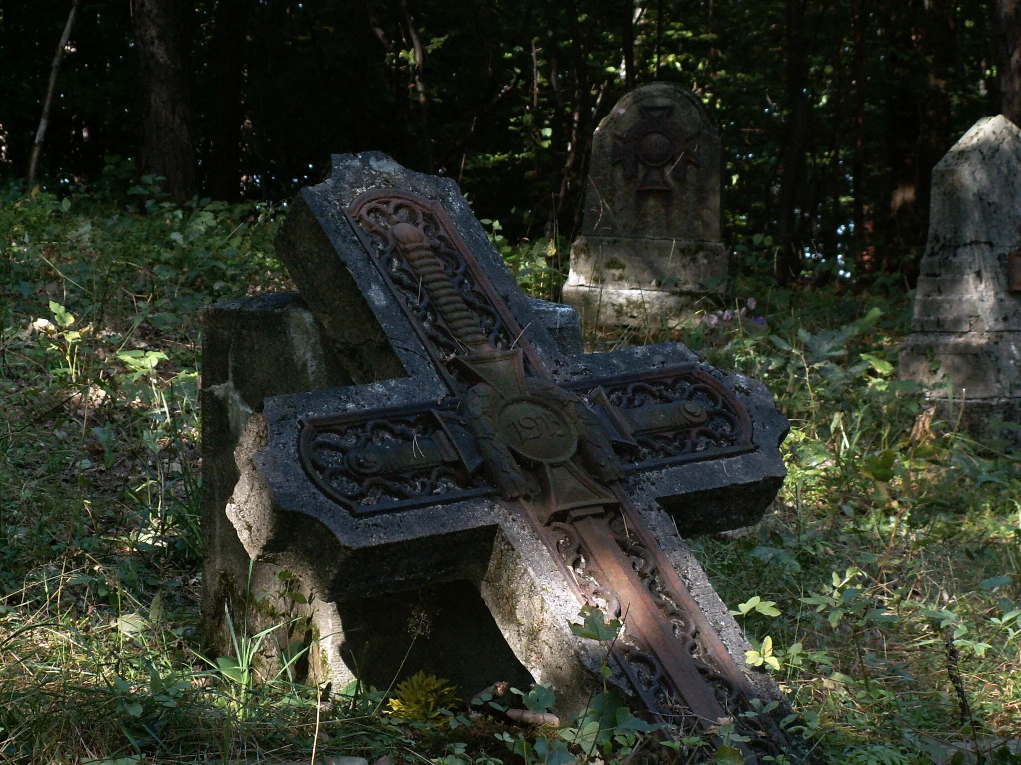
[[[210,58],[215,105],[209,151],[209,193],[214,199],[234,201],[241,196],[241,128],[245,111],[245,35],[252,0],[220,0],[213,21]]]

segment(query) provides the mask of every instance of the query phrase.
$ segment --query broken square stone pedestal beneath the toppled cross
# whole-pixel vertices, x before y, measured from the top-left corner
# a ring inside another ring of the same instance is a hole
[[[565,354],[582,352],[573,308],[537,299],[531,304]],[[283,651],[298,641],[309,650],[295,665],[297,675],[329,678],[335,690],[354,679],[355,671],[367,684],[387,687],[405,658],[407,666],[446,677],[465,693],[485,687],[491,682],[485,673],[493,671],[527,686],[532,678],[468,581],[335,602],[294,572],[249,558],[226,507],[240,477],[238,461],[244,464],[255,447],[247,443],[252,416],[259,418],[271,396],[347,386],[359,367],[386,368],[393,359],[380,349],[353,366],[296,292],[218,303],[202,318],[206,649],[232,655],[232,628],[240,635],[282,625],[263,641],[258,665],[275,673]],[[411,627],[420,630],[414,646]]]

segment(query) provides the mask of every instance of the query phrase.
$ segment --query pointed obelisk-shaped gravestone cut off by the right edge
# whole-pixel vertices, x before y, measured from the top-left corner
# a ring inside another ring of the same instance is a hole
[[[990,427],[1021,423],[1019,261],[1021,129],[985,117],[932,170],[929,239],[901,374],[936,386],[940,416],[956,419],[963,402],[968,429],[1021,446],[1021,431]]]

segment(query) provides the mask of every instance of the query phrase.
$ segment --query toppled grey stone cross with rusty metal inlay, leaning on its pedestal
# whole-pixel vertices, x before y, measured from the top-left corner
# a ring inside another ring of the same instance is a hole
[[[570,713],[600,657],[569,621],[595,605],[625,621],[612,681],[637,704],[690,730],[735,718],[748,761],[787,746],[739,716],[778,691],[680,537],[753,522],[779,488],[787,423],[761,385],[676,344],[566,355],[456,186],[382,154],[334,157],[278,253],[354,385],[247,417],[226,515],[329,604],[321,632],[339,648],[351,602],[467,581]]]

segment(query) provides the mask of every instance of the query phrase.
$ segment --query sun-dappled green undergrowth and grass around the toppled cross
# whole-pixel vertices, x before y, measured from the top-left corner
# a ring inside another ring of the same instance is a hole
[[[408,712],[408,684],[394,704],[324,698],[291,665],[253,671],[246,635],[204,657],[197,312],[288,289],[273,251],[286,209],[179,207],[129,175],[0,195],[0,763],[307,762],[313,748],[436,765],[700,760],[704,742],[665,740],[623,708],[516,726],[442,683],[420,683],[442,701],[425,714]],[[554,294],[555,243],[512,246],[490,225],[523,286]],[[689,540],[747,661],[828,761],[957,763],[977,745],[1017,762],[1001,744],[1021,730],[1018,454],[897,380],[903,285],[779,289],[757,275],[768,239],[738,250],[731,298],[679,328],[587,342],[686,342],[764,381],[790,419],[767,517]],[[540,688],[523,694],[530,709],[552,704]]]

